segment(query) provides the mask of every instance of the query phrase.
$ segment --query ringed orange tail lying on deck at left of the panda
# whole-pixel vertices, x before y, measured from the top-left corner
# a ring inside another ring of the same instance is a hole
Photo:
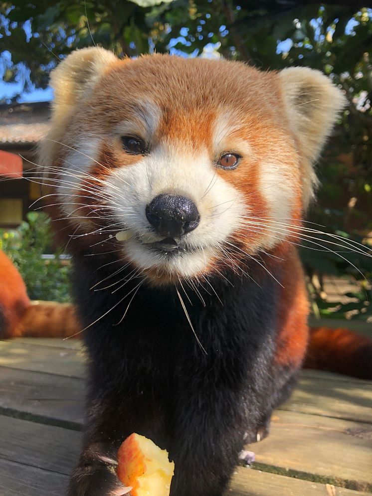
[[[18,335],[72,337],[81,329],[74,305],[36,301],[24,312],[18,324]]]

